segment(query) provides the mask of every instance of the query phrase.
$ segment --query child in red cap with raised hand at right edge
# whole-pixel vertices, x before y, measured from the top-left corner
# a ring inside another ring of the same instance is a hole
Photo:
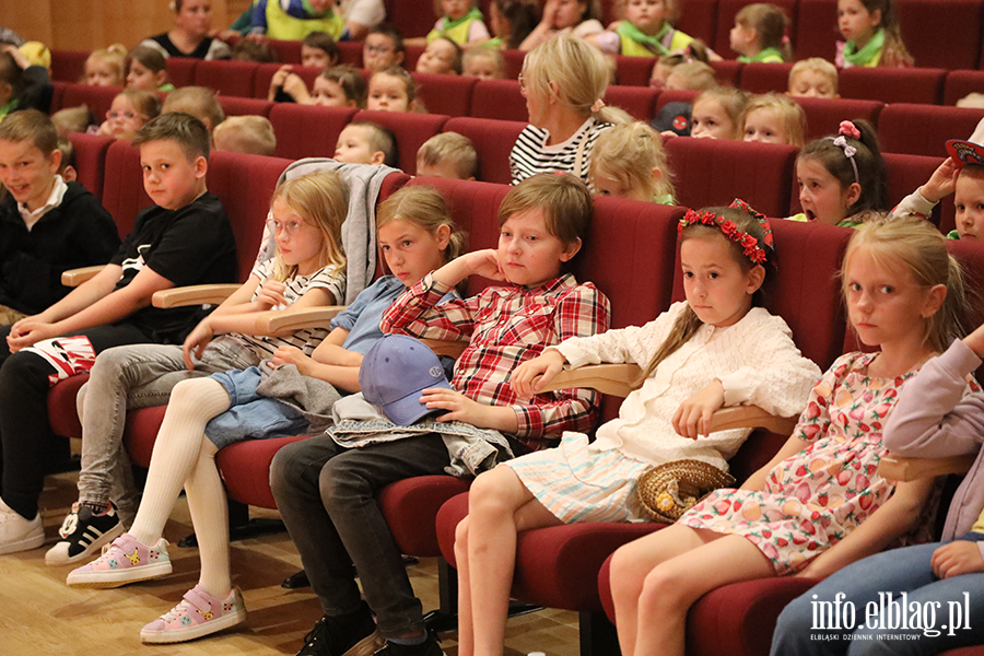
[[[948,239],[984,239],[984,119],[970,140],[947,142],[947,160],[933,172],[929,180],[902,199],[893,215],[914,214],[928,220],[936,204],[953,194],[957,206],[957,230]]]

